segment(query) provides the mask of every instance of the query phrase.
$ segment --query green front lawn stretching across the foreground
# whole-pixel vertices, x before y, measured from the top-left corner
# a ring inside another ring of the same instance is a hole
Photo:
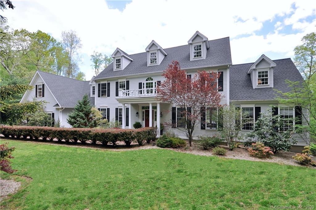
[[[1,209],[270,209],[316,206],[316,170],[164,149],[105,151],[3,140],[32,177]],[[1,173],[1,175],[4,175]]]

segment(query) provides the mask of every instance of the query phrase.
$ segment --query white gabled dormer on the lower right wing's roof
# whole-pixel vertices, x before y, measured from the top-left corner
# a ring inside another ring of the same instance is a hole
[[[253,88],[273,87],[273,68],[276,63],[265,55],[252,64],[248,70]]]

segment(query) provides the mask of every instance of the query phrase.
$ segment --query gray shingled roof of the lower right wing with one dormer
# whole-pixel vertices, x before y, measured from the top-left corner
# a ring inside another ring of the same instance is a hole
[[[273,88],[252,88],[250,74],[247,74],[253,63],[232,65],[229,68],[230,100],[272,100],[276,98],[275,89],[289,92],[291,89],[285,80],[303,82],[303,77],[290,58],[273,60]]]

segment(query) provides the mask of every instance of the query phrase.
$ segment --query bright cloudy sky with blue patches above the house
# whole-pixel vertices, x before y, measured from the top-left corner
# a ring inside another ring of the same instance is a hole
[[[80,70],[93,76],[93,51],[111,55],[145,52],[155,40],[162,48],[187,44],[199,31],[209,40],[230,37],[233,64],[293,58],[295,46],[316,32],[314,0],[186,1],[186,0],[41,0],[12,1],[8,9],[13,29],[41,30],[60,40],[74,30],[82,40]]]

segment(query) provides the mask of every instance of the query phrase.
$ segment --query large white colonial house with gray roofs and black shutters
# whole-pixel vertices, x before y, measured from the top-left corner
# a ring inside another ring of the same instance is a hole
[[[284,118],[299,117],[295,109],[278,104],[275,99],[276,89],[290,90],[286,79],[303,81],[292,60],[271,60],[262,55],[254,63],[232,65],[229,37],[208,40],[197,31],[182,46],[164,49],[153,40],[145,52],[129,55],[116,48],[112,57],[111,65],[85,82],[37,71],[30,83],[34,89],[27,91],[21,102],[49,102],[45,111],[54,114],[55,122],[59,119],[61,126],[70,127],[67,116],[77,100],[86,93],[105,118],[119,121],[122,128],[133,128],[132,124],[139,121],[144,127],[157,126],[160,130],[160,122],[168,123],[172,126],[166,126],[163,133],[171,130],[179,137],[186,138],[185,133],[176,128],[179,127],[177,121],[181,117],[177,107],[156,100],[156,87],[164,80],[161,76],[163,70],[173,60],[177,60],[181,69],[191,77],[198,70],[221,72],[218,79],[221,104],[240,106],[249,112],[253,124],[259,113],[272,105],[277,107],[275,114]],[[201,120],[193,133],[195,138],[218,133],[216,123],[211,121],[212,109],[211,106],[206,107],[205,120]],[[243,130],[247,132],[253,124],[244,125]],[[286,124],[282,129],[288,129]],[[294,136],[298,140],[297,145],[307,144],[308,136]]]

